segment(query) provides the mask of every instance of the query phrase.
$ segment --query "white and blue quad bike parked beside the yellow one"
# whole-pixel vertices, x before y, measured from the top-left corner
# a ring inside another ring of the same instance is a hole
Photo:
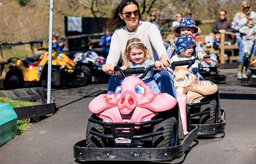
[[[110,75],[102,71],[102,65],[106,63],[106,59],[93,50],[88,50],[86,47],[81,52],[75,53],[73,61],[86,72],[89,77],[88,82],[108,82]]]

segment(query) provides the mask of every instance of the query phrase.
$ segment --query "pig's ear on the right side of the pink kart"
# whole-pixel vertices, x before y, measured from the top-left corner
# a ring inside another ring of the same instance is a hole
[[[168,93],[158,93],[153,98],[148,99],[150,101],[138,104],[138,106],[159,112],[172,109],[177,104],[177,100]]]

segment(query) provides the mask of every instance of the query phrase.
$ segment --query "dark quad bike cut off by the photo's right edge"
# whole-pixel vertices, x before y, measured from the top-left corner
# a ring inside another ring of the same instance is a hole
[[[250,63],[250,74],[248,78],[242,78],[241,79],[241,85],[243,86],[256,86],[256,60]]]

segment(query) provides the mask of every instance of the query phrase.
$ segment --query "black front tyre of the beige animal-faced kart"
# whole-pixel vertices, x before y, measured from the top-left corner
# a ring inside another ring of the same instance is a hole
[[[200,113],[203,111],[210,111],[210,114],[205,114],[200,116],[200,124],[213,124],[216,123],[216,108],[218,108],[218,103],[216,100],[216,97],[214,97],[215,94],[210,95],[207,100],[210,101],[207,105],[202,105],[200,108]]]

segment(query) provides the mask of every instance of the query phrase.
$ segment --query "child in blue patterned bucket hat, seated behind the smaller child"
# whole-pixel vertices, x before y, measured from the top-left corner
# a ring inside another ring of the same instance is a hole
[[[192,18],[185,17],[180,20],[180,25],[175,28],[175,32],[179,33],[181,36],[187,36],[191,38],[193,33],[198,32],[198,28],[196,27],[195,21]],[[171,42],[167,49],[167,55],[169,58],[172,58],[177,54],[177,48],[175,45],[176,40],[177,38]],[[193,55],[197,55],[199,60],[204,58],[204,50],[196,40],[193,40],[193,49],[195,50]]]

